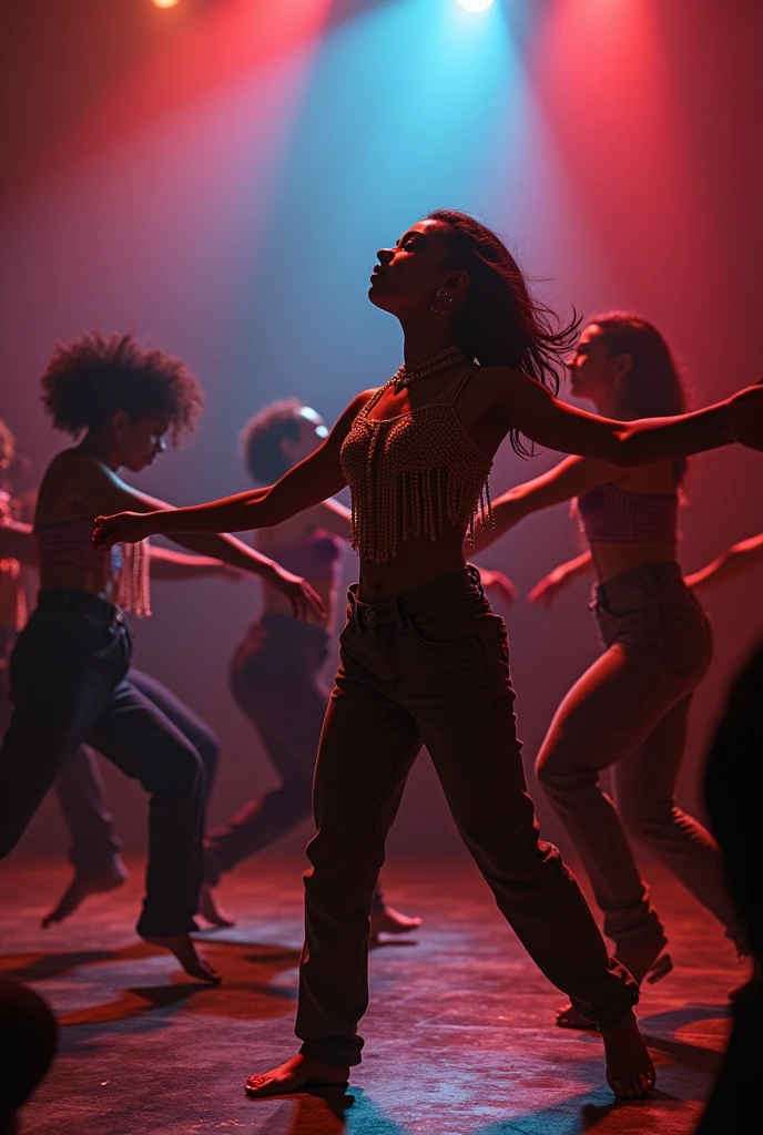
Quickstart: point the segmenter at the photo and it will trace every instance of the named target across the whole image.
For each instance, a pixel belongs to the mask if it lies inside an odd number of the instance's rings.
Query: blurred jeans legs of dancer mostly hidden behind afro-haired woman
[[[127,682],[148,698],[196,750],[204,766],[204,788],[209,799],[219,756],[219,741],[215,733],[156,678],[131,667]],[[83,875],[108,871],[119,855],[121,840],[117,835],[95,754],[89,745],[79,746],[61,768],[53,787],[72,839],[72,866]]]

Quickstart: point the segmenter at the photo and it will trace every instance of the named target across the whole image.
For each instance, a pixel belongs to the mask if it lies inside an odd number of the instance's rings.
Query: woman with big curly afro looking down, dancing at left
[[[42,378],[53,426],[74,437],[42,480],[35,515],[41,590],[14,648],[12,714],[0,748],[0,856],[7,855],[56,776],[89,741],[151,793],[146,896],[141,938],[170,950],[202,981],[217,975],[195,952],[204,777],[199,753],[126,680],[131,638],[124,611],[149,613],[146,549],[95,552],[93,516],[158,502],[117,476],[139,471],[191,429],[202,406],[178,360],[143,351],[132,336],[85,335],[59,347]],[[178,537],[282,588],[299,613],[320,612],[303,580],[229,536]]]

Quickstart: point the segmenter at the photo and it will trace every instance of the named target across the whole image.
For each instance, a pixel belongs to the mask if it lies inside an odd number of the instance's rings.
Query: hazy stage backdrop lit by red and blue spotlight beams
[[[441,205],[497,227],[560,308],[652,318],[695,404],[761,372],[758,0],[508,0],[481,22],[433,0],[28,0],[3,25],[0,415],[37,473],[61,445],[37,376],[56,340],[98,325],[183,355],[208,395],[198,436],[136,484],[178,504],[244,488],[236,438],[251,413],[297,394],[333,419],[396,369],[396,326],[368,304],[367,277],[379,245]],[[505,446],[493,489],[555,460]],[[693,463],[687,570],[763,529],[762,460],[728,448]],[[484,560],[526,592],[577,548],[562,506]],[[352,556],[345,566],[351,579]],[[716,654],[681,777],[690,806],[730,674],[761,633],[760,591],[751,573],[707,599]],[[551,613],[508,612],[528,772],[596,654],[586,602],[579,583]],[[154,609],[135,628],[136,662],[219,732],[217,822],[272,783],[226,687],[258,588],[157,585]],[[142,793],[106,775],[139,851]],[[422,759],[391,850],[459,846]],[[48,800],[15,855],[64,848]]]

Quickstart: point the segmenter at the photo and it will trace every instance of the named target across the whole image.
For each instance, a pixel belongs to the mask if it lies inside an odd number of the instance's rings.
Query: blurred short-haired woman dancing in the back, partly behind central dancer
[[[327,436],[324,419],[310,406],[296,398],[276,402],[244,429],[246,470],[255,484],[272,485]],[[320,671],[329,647],[327,628],[336,619],[342,543],[350,538],[350,510],[333,499],[258,533],[259,550],[304,575],[326,614],[318,624],[299,622],[284,596],[266,583],[263,613],[233,656],[233,696],[259,731],[280,785],[251,800],[204,840],[199,909],[215,925],[232,925],[215,897],[220,875],[310,816],[316,754],[329,697]],[[406,934],[420,925],[420,918],[388,907],[376,888],[371,939],[380,933]]]

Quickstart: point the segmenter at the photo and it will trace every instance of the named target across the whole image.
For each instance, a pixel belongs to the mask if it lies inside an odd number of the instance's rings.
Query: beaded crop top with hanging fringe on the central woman
[[[477,370],[458,375],[427,405],[387,421],[371,417],[380,386],[355,417],[342,445],[342,470],[352,494],[352,547],[362,560],[386,563],[411,536],[431,540],[445,524],[475,518],[493,523],[488,474],[493,462],[459,421],[454,403]]]

